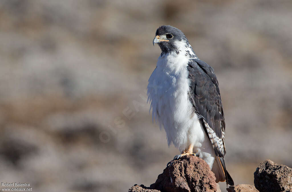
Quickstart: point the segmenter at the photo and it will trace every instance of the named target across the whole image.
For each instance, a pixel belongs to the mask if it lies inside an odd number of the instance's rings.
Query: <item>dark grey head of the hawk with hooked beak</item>
[[[156,30],[153,45],[158,43],[162,53],[169,53],[172,51],[180,51],[180,49],[189,45],[185,34],[178,28],[170,25],[162,25]]]

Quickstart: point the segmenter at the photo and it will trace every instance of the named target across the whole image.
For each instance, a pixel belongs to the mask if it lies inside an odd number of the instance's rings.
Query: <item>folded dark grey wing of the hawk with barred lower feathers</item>
[[[187,69],[190,78],[190,100],[194,110],[201,117],[200,121],[216,155],[224,158],[225,119],[214,69],[199,59],[190,60]]]

